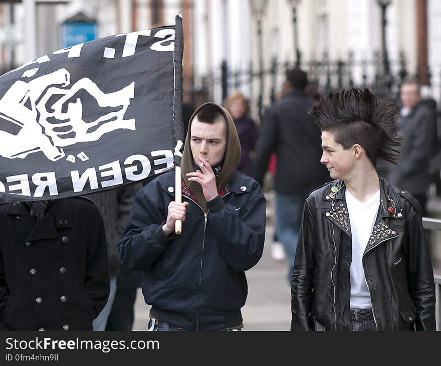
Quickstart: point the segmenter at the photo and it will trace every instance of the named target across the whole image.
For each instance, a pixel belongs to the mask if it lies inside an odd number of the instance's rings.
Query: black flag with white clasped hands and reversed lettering
[[[182,20],[0,76],[0,200],[112,189],[180,163]]]

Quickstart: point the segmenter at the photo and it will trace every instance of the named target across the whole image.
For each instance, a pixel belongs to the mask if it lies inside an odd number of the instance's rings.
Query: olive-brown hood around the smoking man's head
[[[241,157],[241,143],[239,141],[238,132],[236,130],[235,123],[233,121],[233,117],[227,111],[227,109],[221,107],[215,103],[205,103],[198,107],[194,113],[192,114],[190,121],[188,122],[188,130],[187,135],[185,136],[185,144],[184,151],[182,153],[181,159],[181,174],[184,179],[185,185],[191,192],[191,194],[196,198],[197,203],[202,207],[204,212],[206,212],[206,200],[203,196],[202,187],[194,181],[188,181],[186,173],[196,171],[194,168],[193,161],[193,153],[191,151],[191,123],[193,122],[194,116],[199,112],[199,110],[205,105],[213,105],[219,109],[220,112],[224,115],[224,118],[227,122],[227,145],[224,154],[224,163],[222,165],[222,169],[218,176],[216,176],[216,188],[217,193],[219,193],[228,183],[228,181],[233,176],[233,173],[236,170],[236,166]]]

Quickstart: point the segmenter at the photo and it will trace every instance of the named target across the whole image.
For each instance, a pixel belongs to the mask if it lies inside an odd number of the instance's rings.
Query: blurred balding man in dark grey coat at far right
[[[436,129],[434,113],[424,103],[416,81],[401,85],[398,134],[403,137],[398,165],[388,165],[387,180],[408,191],[426,216],[426,191],[430,183],[429,162],[434,154]]]

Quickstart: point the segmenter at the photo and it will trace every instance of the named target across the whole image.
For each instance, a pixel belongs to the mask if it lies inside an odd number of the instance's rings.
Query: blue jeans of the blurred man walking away
[[[276,231],[279,241],[288,257],[288,282],[291,283],[297,240],[302,224],[303,195],[282,195],[276,193]]]

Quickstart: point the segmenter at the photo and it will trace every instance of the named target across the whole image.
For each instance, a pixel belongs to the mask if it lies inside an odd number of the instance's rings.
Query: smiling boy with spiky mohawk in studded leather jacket
[[[306,200],[291,330],[435,330],[421,208],[375,170],[378,158],[398,161],[393,103],[350,89],[321,98],[310,113],[334,180]]]

